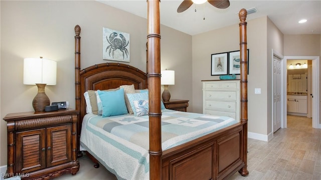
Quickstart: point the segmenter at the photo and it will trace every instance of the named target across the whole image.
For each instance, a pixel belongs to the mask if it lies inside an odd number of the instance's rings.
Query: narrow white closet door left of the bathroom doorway
[[[281,128],[281,59],[273,56],[273,132]]]

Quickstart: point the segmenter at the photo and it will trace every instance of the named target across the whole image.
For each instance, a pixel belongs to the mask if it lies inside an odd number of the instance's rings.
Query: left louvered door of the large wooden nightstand
[[[46,167],[46,129],[16,133],[16,172],[30,172]]]

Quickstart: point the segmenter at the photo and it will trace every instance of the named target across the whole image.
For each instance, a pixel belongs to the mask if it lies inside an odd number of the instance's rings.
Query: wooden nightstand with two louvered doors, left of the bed
[[[7,176],[51,179],[76,174],[78,111],[9,113]]]

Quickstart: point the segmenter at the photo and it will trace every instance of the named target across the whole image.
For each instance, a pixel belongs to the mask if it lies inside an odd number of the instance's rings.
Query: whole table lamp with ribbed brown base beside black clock
[[[32,101],[36,112],[45,111],[50,105],[50,100],[45,93],[46,84],[56,85],[57,62],[49,59],[25,58],[24,59],[24,84],[36,84],[38,93]]]

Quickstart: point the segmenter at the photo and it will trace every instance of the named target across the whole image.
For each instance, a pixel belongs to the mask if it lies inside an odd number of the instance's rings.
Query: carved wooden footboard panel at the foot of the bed
[[[164,150],[162,179],[226,179],[244,167],[244,123]]]

